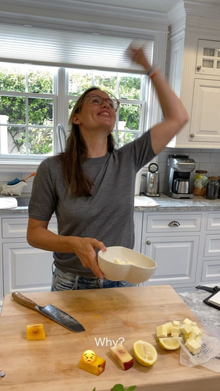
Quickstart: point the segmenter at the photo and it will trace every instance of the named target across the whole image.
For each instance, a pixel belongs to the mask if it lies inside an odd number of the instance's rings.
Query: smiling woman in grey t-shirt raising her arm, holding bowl
[[[52,291],[132,286],[104,279],[97,252],[134,246],[136,173],[188,121],[188,114],[142,48],[131,58],[151,77],[165,120],[133,142],[114,149],[112,131],[119,102],[97,88],[77,100],[66,150],[39,165],[29,203],[27,241],[54,252]],[[58,233],[48,230],[52,213]]]

